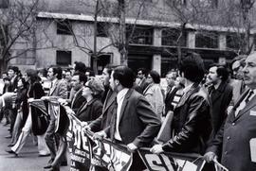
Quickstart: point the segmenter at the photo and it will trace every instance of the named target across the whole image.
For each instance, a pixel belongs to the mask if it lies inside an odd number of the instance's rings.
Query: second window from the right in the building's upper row
[[[200,32],[195,35],[195,47],[218,48],[218,40],[215,32]]]

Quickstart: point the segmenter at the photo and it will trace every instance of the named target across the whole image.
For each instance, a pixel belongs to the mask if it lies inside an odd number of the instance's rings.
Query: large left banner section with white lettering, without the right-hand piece
[[[129,170],[132,154],[126,146],[114,144],[106,139],[94,140],[93,132],[85,131],[82,122],[74,114],[67,113],[69,127],[66,135],[71,152],[72,169],[70,170],[82,170],[82,167],[90,167],[90,170],[94,170],[95,166],[114,171]]]

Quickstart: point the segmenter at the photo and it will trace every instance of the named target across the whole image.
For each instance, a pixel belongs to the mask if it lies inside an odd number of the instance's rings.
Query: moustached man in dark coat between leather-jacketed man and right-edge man
[[[207,82],[210,84],[208,92],[212,104],[212,136],[214,136],[228,113],[227,109],[232,99],[232,87],[228,83],[229,71],[224,66],[212,64],[207,76]]]

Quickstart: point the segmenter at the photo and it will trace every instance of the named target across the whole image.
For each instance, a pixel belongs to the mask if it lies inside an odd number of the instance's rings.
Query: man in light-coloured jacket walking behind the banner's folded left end
[[[42,97],[43,100],[51,100],[58,98],[67,98],[66,82],[62,79],[62,68],[60,67],[49,67],[47,72],[47,77],[51,80],[51,88],[49,90],[48,96]],[[50,168],[50,170],[58,171],[60,165],[67,165],[66,161],[66,140],[65,136],[56,134],[55,130],[55,115],[50,112],[50,123],[46,130],[46,145],[48,146],[51,154],[51,159],[45,168]],[[59,142],[58,151],[55,149],[55,140]]]

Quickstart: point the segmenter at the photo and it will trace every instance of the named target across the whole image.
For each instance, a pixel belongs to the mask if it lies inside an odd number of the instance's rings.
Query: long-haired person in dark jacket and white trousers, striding
[[[27,79],[27,81],[29,83],[29,88],[27,91],[27,96],[29,98],[28,101],[31,99],[40,99],[42,96],[45,95],[43,87],[42,87],[41,83],[39,82],[40,77],[38,77],[37,72],[35,70],[28,69],[25,74],[25,78]],[[31,113],[33,113],[33,114],[31,114]],[[36,125],[37,125],[36,117],[40,116],[41,114],[42,113],[40,113],[40,111],[38,111],[38,110],[33,110],[28,113],[26,124],[22,128],[22,133],[20,134],[18,141],[7,152],[13,153],[17,156],[18,153],[20,152],[20,150],[22,149],[22,147],[25,145],[25,143],[27,141],[27,136],[32,129],[33,133],[35,135],[37,135],[37,138],[38,138],[39,156],[40,157],[48,156],[49,150],[46,146],[46,142],[44,139],[44,133],[46,130],[44,131],[44,130],[38,129],[36,127]]]

